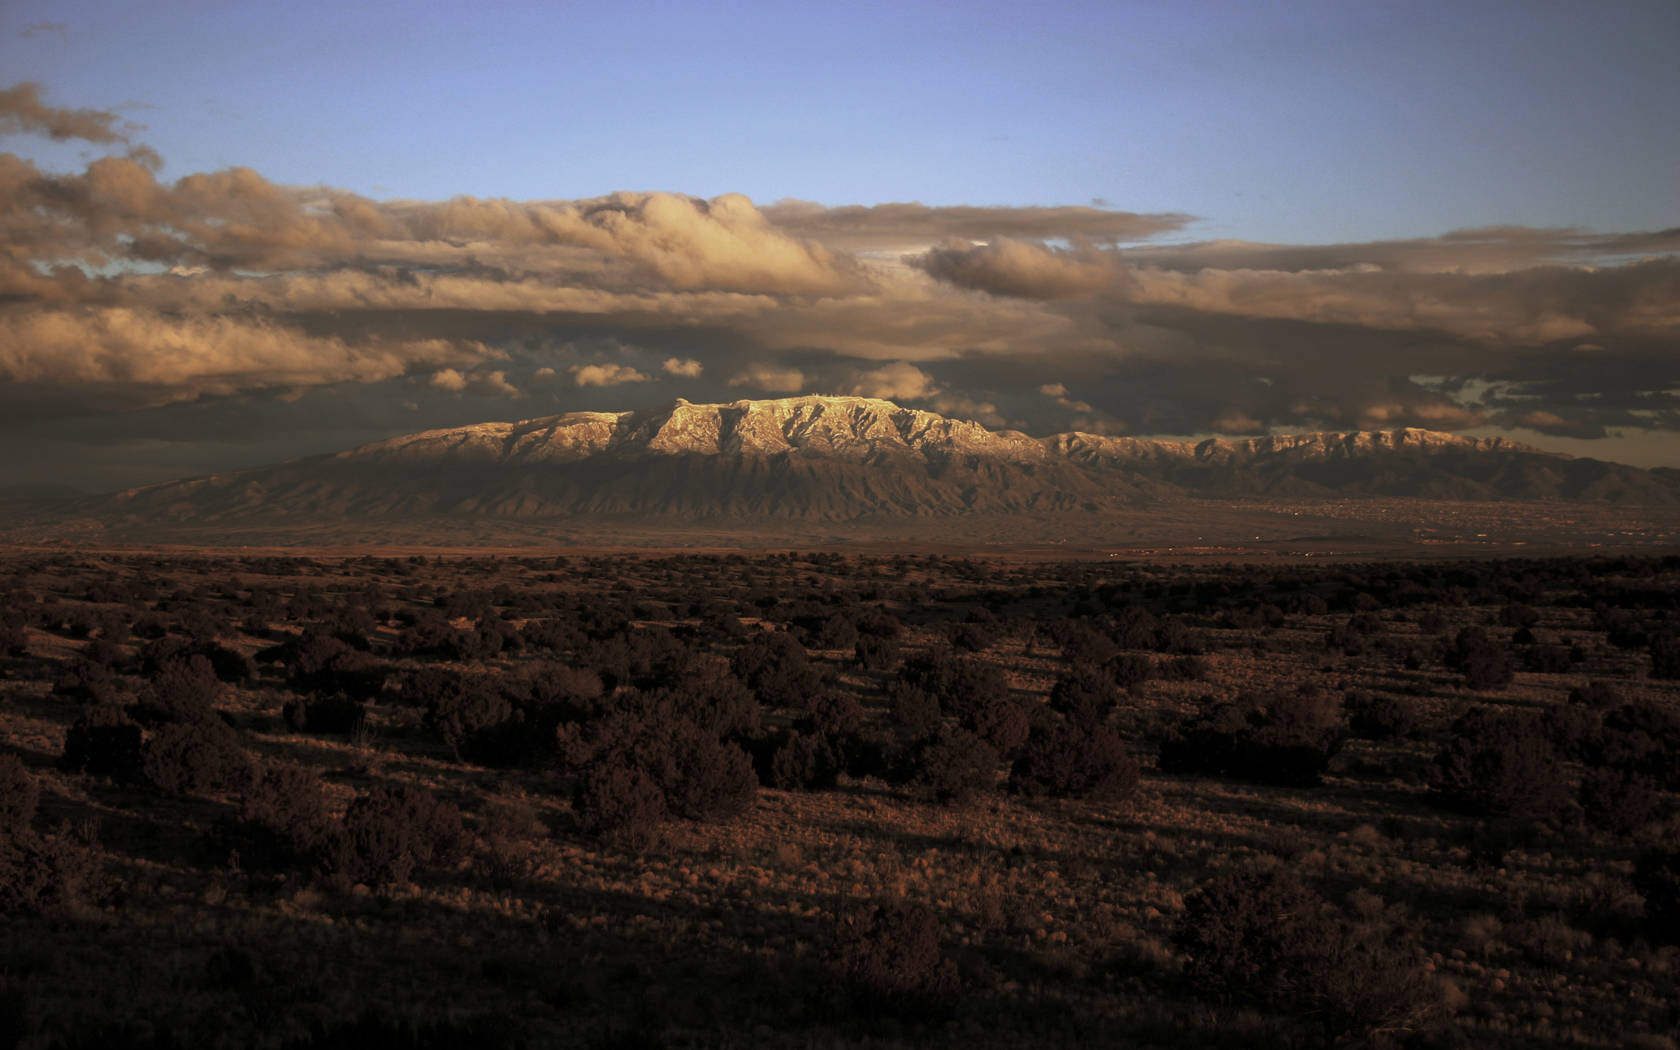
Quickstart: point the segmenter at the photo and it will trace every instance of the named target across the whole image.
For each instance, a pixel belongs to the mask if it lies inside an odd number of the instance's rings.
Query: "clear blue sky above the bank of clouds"
[[[18,37],[42,24],[64,29]],[[1292,244],[1673,225],[1677,52],[1668,2],[15,0],[0,32],[12,79],[118,106],[165,175],[420,200],[1097,198]]]

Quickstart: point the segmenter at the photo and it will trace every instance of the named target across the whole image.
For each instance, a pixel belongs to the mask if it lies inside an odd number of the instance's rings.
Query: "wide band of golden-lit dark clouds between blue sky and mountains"
[[[129,413],[235,440],[232,417],[185,407],[257,398],[306,420],[351,388],[408,430],[788,393],[1037,433],[1680,428],[1677,230],[1137,247],[1189,220],[654,192],[375,202],[249,168],[163,181],[114,114],[54,109],[32,84],[0,99],[0,133],[113,151],[69,173],[0,153],[13,435]]]

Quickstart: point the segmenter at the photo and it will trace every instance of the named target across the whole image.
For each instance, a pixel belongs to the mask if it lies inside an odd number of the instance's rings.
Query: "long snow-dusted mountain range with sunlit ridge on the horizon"
[[[136,534],[422,517],[726,528],[1136,514],[1196,497],[1675,507],[1680,472],[1410,428],[1200,444],[1035,438],[884,400],[798,396],[428,430],[109,496],[13,499],[10,516]]]

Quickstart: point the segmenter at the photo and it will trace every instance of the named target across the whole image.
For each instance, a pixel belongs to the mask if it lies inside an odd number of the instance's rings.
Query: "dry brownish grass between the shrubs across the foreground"
[[[588,586],[637,571],[618,563]],[[212,561],[171,576],[227,573]],[[462,581],[459,570],[427,573]],[[328,570],[307,581],[363,576]],[[954,586],[939,571],[894,583]],[[929,623],[902,610],[912,622],[906,650],[937,637],[949,615],[932,608]],[[1448,610],[1448,635],[1488,612]],[[1147,759],[1161,729],[1198,702],[1302,682],[1403,696],[1436,731],[1470,704],[1559,704],[1588,677],[1614,679],[1630,699],[1680,702],[1673,685],[1641,677],[1636,652],[1606,645],[1583,610],[1541,612],[1536,633],[1583,640],[1588,662],[1567,675],[1519,672],[1488,696],[1465,690],[1438,662],[1406,670],[1398,648],[1326,654],[1324,632],[1339,617],[1292,617],[1268,632],[1203,625],[1213,642],[1206,679],[1151,682],[1114,721]],[[1431,642],[1413,622],[1388,627],[1391,645]],[[1640,934],[1628,882],[1640,842],[1567,825],[1507,828],[1509,848],[1488,862],[1475,822],[1426,805],[1431,741],[1354,741],[1314,790],[1164,776],[1146,761],[1126,805],[1000,791],[946,808],[874,780],[818,795],[764,790],[734,823],[665,825],[652,850],[620,853],[573,833],[566,778],[455,763],[415,711],[378,706],[365,732],[314,738],[286,731],[281,682],[228,689],[220,707],[247,748],[319,768],[336,806],[376,783],[418,785],[457,801],[484,833],[457,870],[336,895],[301,877],[230,870],[213,828],[232,798],[166,800],[59,773],[52,763],[77,709],[50,696],[49,674],[81,642],[39,630],[30,642],[32,657],[13,662],[3,684],[0,738],[40,778],[37,825],[101,822],[123,890],[104,911],[71,919],[0,917],[0,968],[35,1025],[27,1047],[106,1020],[168,1026],[203,1045],[277,1045],[368,1008],[509,1018],[531,1045],[554,1047],[630,1037],[669,1047],[1267,1043],[1287,1037],[1289,1018],[1240,1013],[1215,1025],[1179,979],[1171,934],[1186,894],[1210,877],[1285,869],[1344,914],[1416,922],[1420,951],[1452,983],[1453,1030],[1470,1045],[1656,1047],[1680,1008],[1680,953]],[[884,675],[857,672],[843,654],[813,659],[884,717],[872,692]],[[1023,694],[1047,694],[1063,669],[1043,640],[1020,635],[978,659],[1000,664]],[[491,815],[509,806],[534,813],[541,828],[489,835]],[[1680,833],[1673,800],[1665,806],[1667,823],[1643,830],[1643,842]],[[951,1025],[919,1030],[837,1006],[822,954],[840,914],[879,899],[941,917],[966,986]],[[217,976],[213,959],[227,949],[249,953],[255,981]]]

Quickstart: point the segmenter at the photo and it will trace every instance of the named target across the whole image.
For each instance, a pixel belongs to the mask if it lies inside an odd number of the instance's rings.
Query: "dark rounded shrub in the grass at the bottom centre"
[[[942,1016],[961,991],[956,964],[939,954],[939,919],[917,904],[870,904],[843,916],[828,968],[865,1013]]]

